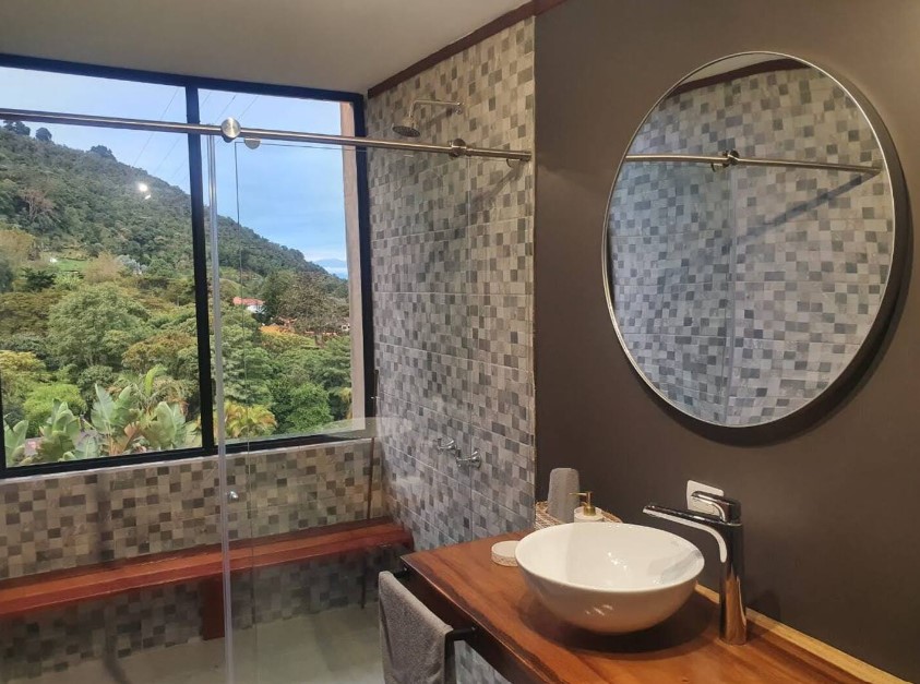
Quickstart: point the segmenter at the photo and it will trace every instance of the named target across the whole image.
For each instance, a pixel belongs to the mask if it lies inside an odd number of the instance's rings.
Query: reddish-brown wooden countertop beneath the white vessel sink
[[[522,537],[503,535],[403,559],[414,571],[409,588],[442,620],[478,627],[470,646],[515,684],[898,681],[855,659],[862,670],[822,657],[849,658],[831,647],[816,655],[814,647],[790,639],[799,633],[778,629],[777,623],[750,624],[748,644],[729,646],[718,638],[718,605],[705,589],[645,632],[608,636],[569,626],[541,608],[519,568],[492,563],[494,542]]]

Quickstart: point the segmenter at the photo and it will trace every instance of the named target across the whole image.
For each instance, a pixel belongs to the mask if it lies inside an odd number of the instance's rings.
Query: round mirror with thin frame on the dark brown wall
[[[638,128],[608,206],[605,280],[635,370],[716,425],[809,406],[884,327],[903,197],[850,86],[766,52],[695,71]]]

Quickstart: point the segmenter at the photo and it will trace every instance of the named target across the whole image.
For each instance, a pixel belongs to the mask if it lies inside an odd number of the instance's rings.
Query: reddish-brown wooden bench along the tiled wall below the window
[[[413,536],[391,518],[330,525],[319,529],[234,542],[230,574],[303,563],[378,549],[413,550]],[[31,615],[153,587],[199,583],[202,637],[224,636],[220,544],[172,553],[83,565],[0,581],[0,619]],[[367,577],[365,577],[367,581]]]

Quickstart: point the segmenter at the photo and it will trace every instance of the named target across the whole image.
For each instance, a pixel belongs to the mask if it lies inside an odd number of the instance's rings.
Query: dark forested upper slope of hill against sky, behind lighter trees
[[[191,274],[189,195],[111,152],[71,149],[0,131],[0,221],[17,225],[40,249],[76,257],[126,254],[154,271]],[[141,193],[138,183],[150,188]],[[150,194],[148,200],[144,200]],[[326,272],[297,251],[222,216],[220,263],[266,276],[278,269]],[[333,286],[340,283],[331,280]]]

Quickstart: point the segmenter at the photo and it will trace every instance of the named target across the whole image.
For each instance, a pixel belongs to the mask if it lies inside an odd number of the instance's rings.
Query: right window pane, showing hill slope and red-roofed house
[[[247,115],[244,124],[316,131],[310,121],[325,120],[322,132],[340,131],[338,103],[285,100],[265,98],[260,118]],[[236,141],[218,142],[216,153],[227,437],[332,432],[353,416],[358,313],[343,152]]]

